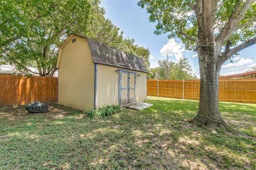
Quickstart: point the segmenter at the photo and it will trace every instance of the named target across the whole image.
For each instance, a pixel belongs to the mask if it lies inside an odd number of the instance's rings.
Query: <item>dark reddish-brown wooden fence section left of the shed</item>
[[[58,78],[0,74],[0,107],[57,101]]]

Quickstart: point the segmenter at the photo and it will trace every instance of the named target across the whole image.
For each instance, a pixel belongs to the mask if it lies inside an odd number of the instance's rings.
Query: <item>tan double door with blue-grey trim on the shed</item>
[[[135,101],[136,73],[120,71],[119,74],[120,104],[132,103]]]

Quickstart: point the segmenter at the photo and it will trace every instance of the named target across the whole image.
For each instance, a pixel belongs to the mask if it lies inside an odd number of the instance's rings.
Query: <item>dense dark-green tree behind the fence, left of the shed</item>
[[[58,47],[69,32],[86,28],[90,6],[86,0],[4,1],[2,57],[20,73],[52,76]],[[11,12],[6,13],[9,8]],[[36,67],[37,72],[28,66]]]

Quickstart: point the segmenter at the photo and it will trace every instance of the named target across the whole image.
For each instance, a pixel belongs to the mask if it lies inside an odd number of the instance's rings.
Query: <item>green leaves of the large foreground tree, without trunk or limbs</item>
[[[183,44],[185,44],[186,49],[195,50],[196,43],[185,36],[187,35],[197,39],[199,33],[196,14],[193,8],[190,7],[189,2],[191,2],[191,5],[196,4],[194,0],[140,0],[138,5],[142,8],[146,8],[147,12],[150,14],[150,22],[157,23],[155,31],[157,35],[168,33],[169,38],[180,38]],[[225,27],[225,23],[227,23],[237,3],[241,3],[240,7],[242,7],[245,1],[218,0],[213,25],[215,37],[218,35],[219,31]],[[231,46],[235,46],[239,41],[248,40],[256,35],[255,13],[256,2],[254,1],[245,13],[243,20],[238,23],[237,29],[229,37],[228,40],[231,41]],[[181,31],[183,33],[181,33]],[[225,45],[225,43],[226,42],[223,42],[222,45]]]

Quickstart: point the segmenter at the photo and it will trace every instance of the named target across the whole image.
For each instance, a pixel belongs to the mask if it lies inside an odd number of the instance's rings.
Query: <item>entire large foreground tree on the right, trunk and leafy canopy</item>
[[[229,128],[219,111],[219,73],[230,57],[256,43],[256,3],[253,0],[140,0],[157,22],[156,34],[180,38],[198,54],[200,100],[193,125]],[[222,49],[223,48],[223,49]]]

